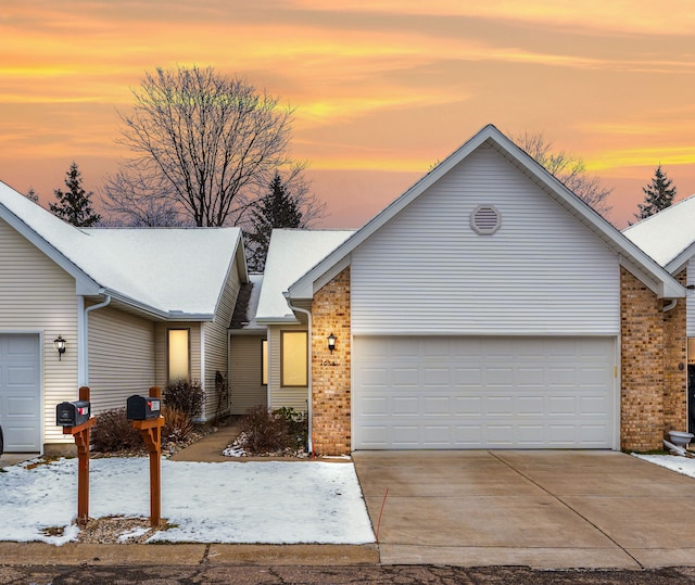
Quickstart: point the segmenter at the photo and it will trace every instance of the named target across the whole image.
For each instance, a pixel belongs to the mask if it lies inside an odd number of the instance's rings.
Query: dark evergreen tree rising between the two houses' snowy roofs
[[[288,193],[278,173],[270,181],[269,191],[263,195],[251,212],[253,231],[247,236],[250,257],[249,268],[262,272],[274,228],[302,227],[302,212],[295,199]]]

